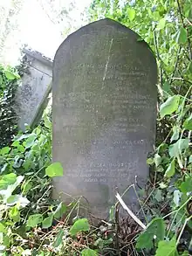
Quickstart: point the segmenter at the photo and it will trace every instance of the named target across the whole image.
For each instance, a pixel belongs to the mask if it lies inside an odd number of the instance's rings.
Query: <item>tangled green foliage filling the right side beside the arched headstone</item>
[[[92,20],[110,17],[136,31],[153,49],[159,68],[156,150],[154,157],[147,160],[153,168],[141,203],[147,230],[139,238],[135,236],[134,248],[131,248],[133,240],[129,246],[127,243],[127,253],[189,255],[192,251],[191,1],[93,0],[90,17]]]

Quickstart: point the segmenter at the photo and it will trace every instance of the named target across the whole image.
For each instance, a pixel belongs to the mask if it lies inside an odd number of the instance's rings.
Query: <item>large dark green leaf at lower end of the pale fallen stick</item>
[[[165,236],[165,224],[162,218],[154,218],[148,225],[147,229],[141,233],[137,239],[136,248],[138,249],[151,249],[154,247],[154,236],[155,241],[158,243]],[[162,256],[162,255],[161,255]]]

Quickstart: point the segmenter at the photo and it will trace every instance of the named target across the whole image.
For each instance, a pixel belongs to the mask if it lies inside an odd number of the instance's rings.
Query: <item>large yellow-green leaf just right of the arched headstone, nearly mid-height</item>
[[[169,97],[168,100],[166,100],[163,104],[161,104],[161,107],[160,107],[161,118],[163,118],[167,114],[174,113],[179,107],[179,100],[180,100],[180,96],[174,95],[172,97]]]

